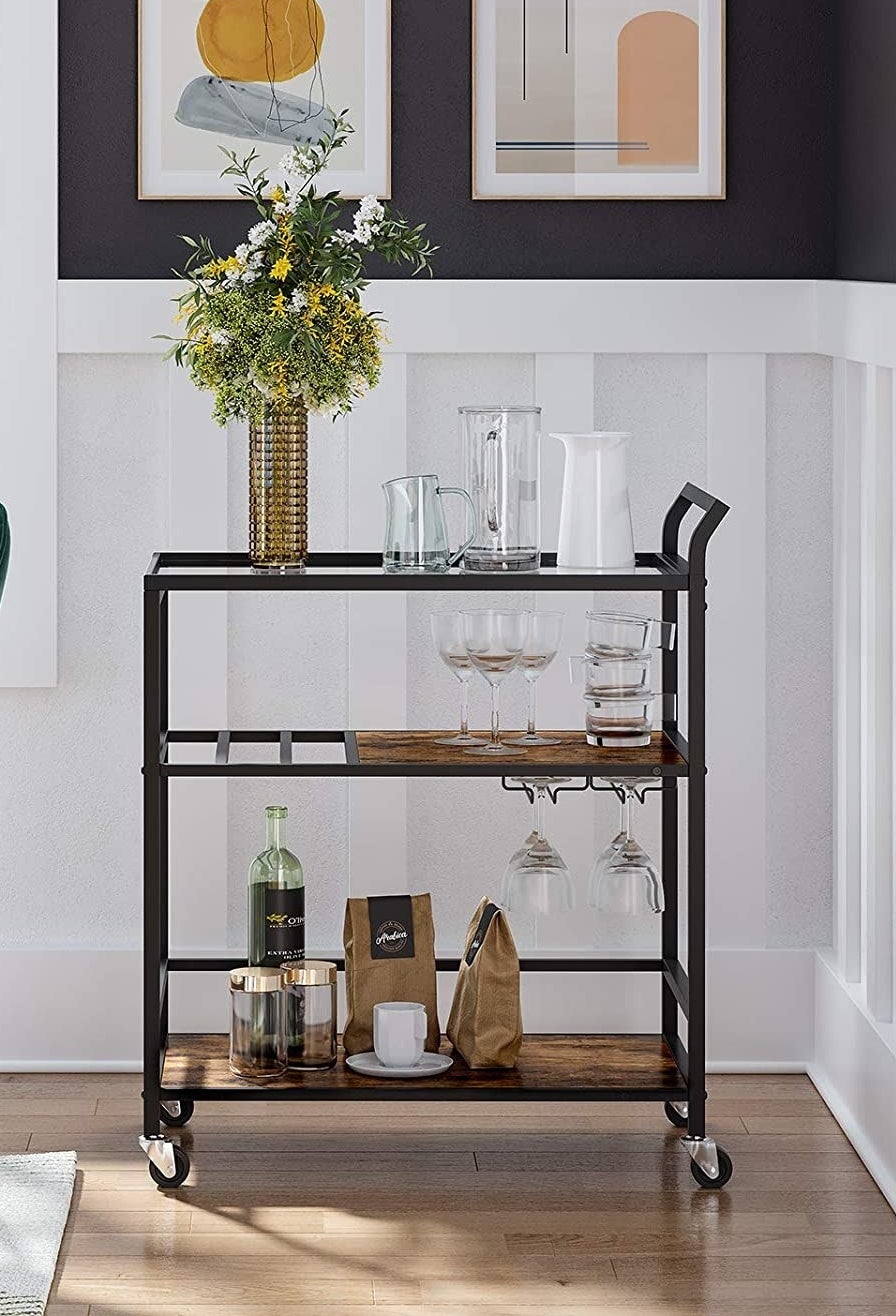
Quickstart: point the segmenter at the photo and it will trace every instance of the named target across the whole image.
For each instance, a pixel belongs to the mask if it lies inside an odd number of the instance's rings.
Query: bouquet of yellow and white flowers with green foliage
[[[375,196],[364,196],[349,229],[338,228],[337,192],[314,180],[353,132],[345,114],[314,145],[297,145],[280,161],[282,186],[270,187],[258,155],[222,171],[255,204],[261,220],[232,255],[218,257],[208,238],[184,237],[189,258],[176,299],[183,337],[168,351],[193,383],[214,393],[214,417],[259,424],[266,409],[304,405],[333,416],[351,409],[380,372],[383,322],[361,304],[371,251],[418,274],[436,250],[424,225],[412,228]]]

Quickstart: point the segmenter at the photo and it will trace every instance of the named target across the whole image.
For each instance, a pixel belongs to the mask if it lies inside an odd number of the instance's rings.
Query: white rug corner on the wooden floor
[[[0,1157],[0,1316],[43,1316],[76,1166],[74,1152]]]

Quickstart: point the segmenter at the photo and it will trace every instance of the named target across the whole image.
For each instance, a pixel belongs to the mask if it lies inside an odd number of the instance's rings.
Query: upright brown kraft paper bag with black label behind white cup
[[[342,1034],[346,1055],[374,1049],[374,1005],[412,1000],[426,1008],[426,1050],[442,1041],[436,996],[436,930],[429,895],[346,900]]]

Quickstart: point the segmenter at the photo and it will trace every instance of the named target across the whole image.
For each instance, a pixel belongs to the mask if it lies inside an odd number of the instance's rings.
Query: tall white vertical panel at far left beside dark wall
[[[0,503],[12,553],[0,687],[57,683],[57,82],[55,4],[4,5]]]

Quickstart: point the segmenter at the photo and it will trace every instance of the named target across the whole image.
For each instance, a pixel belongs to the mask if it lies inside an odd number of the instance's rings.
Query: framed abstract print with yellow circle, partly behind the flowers
[[[141,0],[141,199],[233,199],[220,146],[276,175],[347,111],[321,186],[389,196],[389,0]]]

